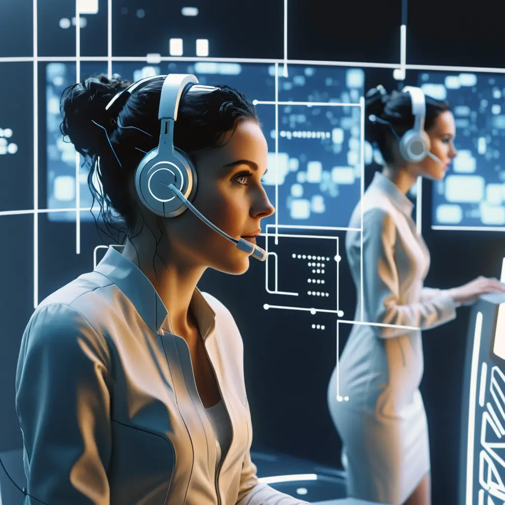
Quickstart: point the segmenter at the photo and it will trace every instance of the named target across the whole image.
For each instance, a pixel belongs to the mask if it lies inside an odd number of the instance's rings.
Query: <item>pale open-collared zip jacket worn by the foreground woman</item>
[[[191,309],[229,419],[221,460],[185,340],[149,280],[110,247],[41,302],[23,335],[16,409],[30,495],[49,505],[306,503],[256,476],[233,317],[198,289]]]

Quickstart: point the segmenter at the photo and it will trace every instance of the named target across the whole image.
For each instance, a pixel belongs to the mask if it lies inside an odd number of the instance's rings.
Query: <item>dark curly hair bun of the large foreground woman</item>
[[[111,118],[105,108],[129,84],[119,77],[109,79],[105,75],[98,75],[65,89],[60,103],[63,116],[60,129],[63,135],[70,138],[78,153],[89,157],[99,156],[104,148],[110,148],[104,128],[111,130],[111,120],[116,118]]]

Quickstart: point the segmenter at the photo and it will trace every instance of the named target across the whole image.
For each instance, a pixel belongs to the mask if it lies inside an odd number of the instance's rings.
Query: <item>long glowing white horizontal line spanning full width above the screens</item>
[[[149,57],[150,59],[151,57]],[[147,62],[147,56],[39,56],[39,57],[1,57],[0,63],[20,63],[20,62]],[[324,66],[324,67],[362,67],[362,68],[390,68],[399,69],[399,63],[373,63],[373,62],[342,62],[323,60],[287,60],[280,58],[201,58],[201,57],[176,57],[161,56],[159,61],[166,62],[214,62],[214,63],[258,63],[258,64],[288,64],[304,66]],[[406,70],[430,70],[434,72],[484,72],[490,74],[504,74],[505,68],[493,67],[455,67],[451,65],[405,65]]]

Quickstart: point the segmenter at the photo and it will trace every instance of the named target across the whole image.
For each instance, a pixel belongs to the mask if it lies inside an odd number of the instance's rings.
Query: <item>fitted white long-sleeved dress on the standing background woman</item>
[[[428,329],[456,317],[443,290],[423,287],[430,255],[411,217],[412,203],[377,173],[352,214],[361,228],[363,321]],[[361,321],[361,233],[348,231],[346,253]],[[342,439],[350,496],[400,505],[430,471],[428,426],[419,391],[421,331],[354,325],[328,388],[328,406]]]

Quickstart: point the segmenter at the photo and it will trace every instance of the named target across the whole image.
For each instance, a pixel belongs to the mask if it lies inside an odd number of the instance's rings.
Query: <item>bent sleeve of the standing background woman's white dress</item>
[[[393,218],[382,209],[371,209],[363,223],[363,302],[369,323],[409,326],[423,330],[456,318],[454,300],[444,290],[426,288],[418,302],[403,305],[395,251],[402,247]],[[351,255],[361,254],[360,243],[351,244]],[[373,327],[381,338],[405,335],[405,328]]]

